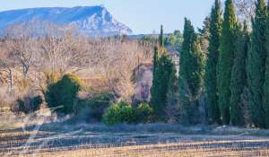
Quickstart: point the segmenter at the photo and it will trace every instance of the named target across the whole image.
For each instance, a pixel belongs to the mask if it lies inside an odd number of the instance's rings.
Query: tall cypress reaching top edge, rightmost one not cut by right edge
[[[265,127],[265,109],[263,108],[266,59],[265,26],[265,0],[258,0],[256,17],[252,20],[251,49],[247,56],[248,104],[252,122],[258,127]]]

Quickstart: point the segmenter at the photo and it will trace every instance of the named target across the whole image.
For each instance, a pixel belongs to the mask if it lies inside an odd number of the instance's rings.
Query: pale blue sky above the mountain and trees
[[[125,23],[134,34],[183,30],[184,18],[195,28],[202,27],[214,0],[1,0],[0,11],[32,7],[74,7],[104,5],[118,22]]]

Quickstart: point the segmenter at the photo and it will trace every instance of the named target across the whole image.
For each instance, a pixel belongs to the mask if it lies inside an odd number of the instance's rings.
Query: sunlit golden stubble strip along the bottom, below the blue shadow
[[[31,153],[11,156],[268,156],[269,150],[265,144],[268,144],[268,140],[180,142],[178,144],[145,144],[133,146],[97,144],[81,145],[79,147],[65,147],[62,151],[56,151],[52,149],[45,153],[43,152],[44,150],[39,149],[36,151],[41,151],[43,153]]]

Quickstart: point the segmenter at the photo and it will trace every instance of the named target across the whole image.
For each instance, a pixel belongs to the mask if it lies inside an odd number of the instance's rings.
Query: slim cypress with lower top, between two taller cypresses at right
[[[235,59],[231,71],[230,79],[230,121],[232,125],[243,126],[243,104],[241,96],[244,88],[247,86],[247,51],[248,51],[248,32],[247,22],[244,23],[244,29],[238,28],[238,37],[236,41],[237,49],[235,51]]]

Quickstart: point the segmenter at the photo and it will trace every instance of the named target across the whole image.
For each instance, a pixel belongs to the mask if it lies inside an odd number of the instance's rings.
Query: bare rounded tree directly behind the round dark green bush
[[[65,34],[63,37],[47,37],[39,39],[39,70],[52,73],[59,72],[65,74],[72,71],[71,67],[78,68],[76,65],[82,63],[85,54],[80,39]]]

